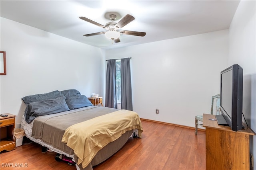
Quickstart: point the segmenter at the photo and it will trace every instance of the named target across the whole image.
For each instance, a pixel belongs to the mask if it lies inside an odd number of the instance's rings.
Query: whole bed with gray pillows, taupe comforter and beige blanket
[[[92,170],[143,131],[134,111],[93,106],[74,89],[22,98],[21,128],[26,137],[74,158],[78,170]]]

